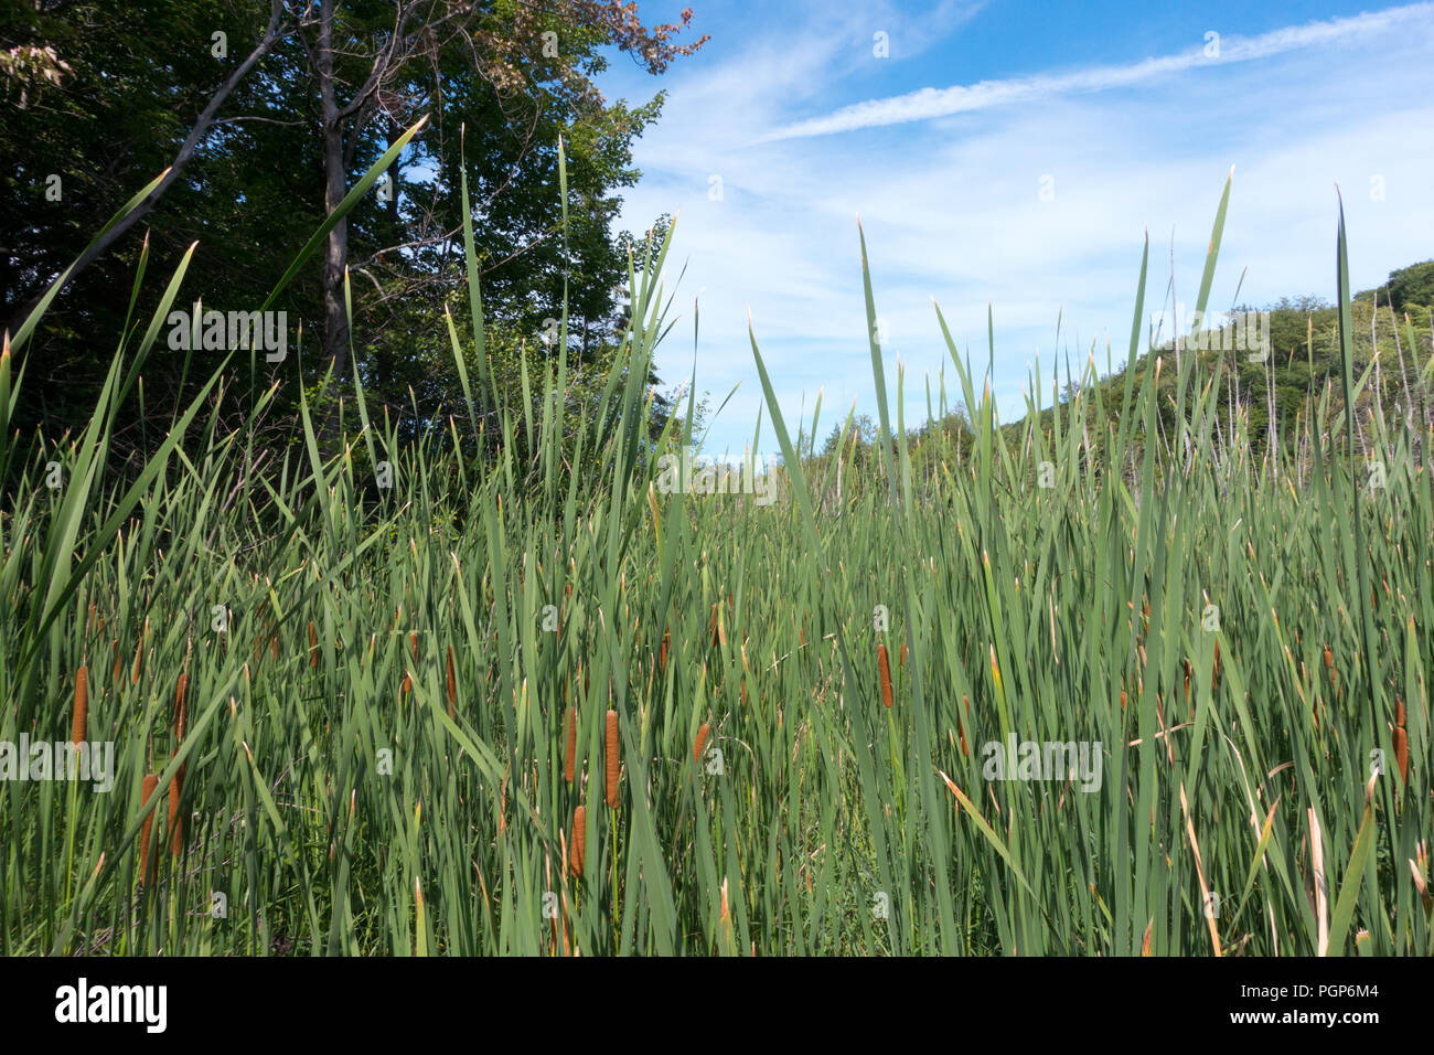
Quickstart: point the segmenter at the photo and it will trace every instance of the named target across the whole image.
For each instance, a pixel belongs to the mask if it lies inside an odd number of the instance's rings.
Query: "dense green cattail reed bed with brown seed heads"
[[[115,751],[109,792],[0,782],[0,952],[1434,953],[1431,436],[1351,355],[1311,465],[1217,438],[1193,356],[1012,442],[938,311],[965,442],[913,469],[873,343],[885,455],[832,504],[853,468],[797,449],[820,408],[782,418],[754,336],[780,500],[663,494],[665,245],[592,416],[564,357],[526,405],[486,388],[466,235],[467,413],[416,444],[356,383],[337,455],[305,411],[255,469],[214,382],[109,475],[184,267],[73,442],[16,461],[0,360],[0,741]],[[1342,221],[1334,255],[1348,311]],[[1131,356],[1144,307],[1141,260]],[[1008,741],[1090,745],[1098,779],[988,779]]]

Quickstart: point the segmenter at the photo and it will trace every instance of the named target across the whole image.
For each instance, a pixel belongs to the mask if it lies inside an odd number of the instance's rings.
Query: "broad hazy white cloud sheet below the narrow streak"
[[[1002,419],[1015,419],[1037,349],[1047,395],[1053,353],[1063,373],[1067,350],[1080,370],[1094,339],[1103,372],[1108,333],[1114,362],[1124,359],[1146,222],[1146,311],[1160,310],[1172,231],[1176,293],[1193,301],[1232,164],[1212,307],[1229,304],[1246,264],[1243,301],[1332,294],[1336,179],[1355,287],[1372,286],[1434,248],[1431,11],[1434,4],[1421,4],[1248,40],[1228,36],[1215,76],[1146,76],[1131,82],[1139,90],[1070,89],[1040,105],[786,139],[761,132],[832,90],[829,70],[847,62],[853,24],[865,30],[870,20],[799,33],[803,43],[789,65],[774,60],[780,49],[757,30],[743,55],[674,80],[663,121],[638,144],[645,177],[625,194],[625,225],[642,230],[658,212],[680,208],[670,276],[688,264],[674,300],[684,319],[658,353],[658,372],[670,383],[687,382],[691,303],[701,290],[698,389],[717,403],[741,383],[710,446],[741,451],[764,402],[749,307],[793,432],[799,412],[810,422],[819,390],[823,433],[853,399],[859,413],[875,416],[860,212],[878,313],[891,330],[888,386],[898,357],[908,367],[908,426],[925,416],[926,373],[945,369],[948,390],[958,388],[932,296],[978,373],[994,304],[995,390]],[[1411,13],[1423,13],[1424,24]],[[1265,60],[1228,60],[1253,57],[1249,49]],[[1137,67],[1143,63],[1108,69]],[[754,135],[763,142],[754,145]],[[723,175],[721,201],[708,200],[714,172]],[[1054,178],[1054,201],[1040,200],[1041,175]],[[1369,195],[1375,175],[1385,201]],[[774,449],[766,413],[763,448]]]

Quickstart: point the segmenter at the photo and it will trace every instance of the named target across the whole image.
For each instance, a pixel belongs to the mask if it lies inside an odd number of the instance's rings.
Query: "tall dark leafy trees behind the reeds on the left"
[[[257,307],[348,185],[429,115],[381,194],[330,231],[320,260],[278,304],[301,333],[318,334],[318,372],[344,378],[347,278],[363,327],[354,347],[371,353],[360,356],[363,379],[390,406],[402,406],[407,383],[419,379],[417,334],[442,330],[443,303],[462,294],[460,175],[483,248],[485,314],[536,333],[558,311],[566,280],[581,352],[594,355],[611,339],[614,289],[625,278],[612,191],[637,179],[631,141],[655,119],[661,93],[635,108],[608,103],[592,83],[605,63],[601,49],[617,46],[660,73],[706,40],[673,40],[690,10],[681,24],[648,29],[635,4],[617,0],[274,0],[267,10],[239,0],[142,0],[119,11],[63,0],[0,3],[3,88],[24,99],[0,115],[0,135],[34,144],[16,171],[0,174],[7,319],[23,319],[92,233],[169,169],[133,218],[70,273],[47,333],[27,349],[30,376],[102,375],[95,367],[110,349],[95,336],[118,333],[129,317],[141,225],[156,261],[199,243],[186,286],[202,289],[184,296]],[[569,172],[566,245],[556,222],[559,136]],[[66,197],[46,208],[37,202],[54,169]],[[274,370],[298,370],[297,360]],[[146,392],[179,395],[185,376],[175,360],[152,362]],[[83,416],[87,393],[63,398],[73,402],[39,408],[34,418]]]

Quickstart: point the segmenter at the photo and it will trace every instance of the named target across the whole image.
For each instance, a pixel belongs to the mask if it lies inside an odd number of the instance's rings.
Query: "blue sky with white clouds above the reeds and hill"
[[[683,6],[640,11],[677,22]],[[632,102],[668,93],[635,145],[642,179],[621,224],[678,214],[681,322],[657,366],[685,383],[695,355],[714,403],[739,386],[708,454],[740,454],[763,402],[749,310],[789,428],[819,392],[823,435],[853,400],[875,418],[858,214],[908,426],[928,376],[959,385],[932,299],[977,365],[992,304],[1002,421],[1024,412],[1038,353],[1047,398],[1057,350],[1080,369],[1096,340],[1103,372],[1108,334],[1119,365],[1146,225],[1149,319],[1172,250],[1176,296],[1193,303],[1232,165],[1212,309],[1242,271],[1243,303],[1332,299],[1336,182],[1355,289],[1434,257],[1434,3],[691,6],[711,34],[701,52],[661,78],[619,56],[599,83]]]

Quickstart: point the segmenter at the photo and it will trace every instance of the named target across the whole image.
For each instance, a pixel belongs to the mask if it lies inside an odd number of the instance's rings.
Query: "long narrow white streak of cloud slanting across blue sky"
[[[1152,57],[1120,66],[1094,66],[1074,73],[982,80],[975,85],[955,85],[942,89],[923,88],[918,92],[889,99],[870,99],[852,106],[843,106],[822,118],[799,121],[759,136],[756,142],[833,135],[859,128],[945,118],[954,113],[982,111],[1012,102],[1032,102],[1077,92],[1127,88],[1197,66],[1250,62],[1253,59],[1266,59],[1285,52],[1315,47],[1351,37],[1387,33],[1401,23],[1427,23],[1431,17],[1434,17],[1434,3],[1418,3],[1358,14],[1349,19],[1331,19],[1328,22],[1312,22],[1305,26],[1289,26],[1253,37],[1209,40],[1179,55]]]

